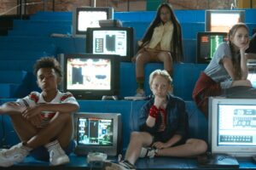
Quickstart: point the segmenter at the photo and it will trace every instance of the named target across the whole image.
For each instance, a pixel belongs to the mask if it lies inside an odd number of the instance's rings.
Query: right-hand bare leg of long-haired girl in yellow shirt
[[[157,58],[164,63],[164,69],[170,74],[172,77],[172,55],[168,52],[160,52],[157,54]]]

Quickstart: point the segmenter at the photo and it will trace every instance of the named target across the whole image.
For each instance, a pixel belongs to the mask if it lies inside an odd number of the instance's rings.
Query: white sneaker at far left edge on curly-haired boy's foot
[[[0,167],[10,167],[15,163],[20,163],[29,154],[31,148],[22,143],[16,144],[9,150],[0,150]]]

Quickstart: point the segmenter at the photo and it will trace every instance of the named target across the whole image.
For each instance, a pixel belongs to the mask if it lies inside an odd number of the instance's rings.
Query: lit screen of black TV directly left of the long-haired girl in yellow
[[[93,54],[127,54],[127,31],[93,31]]]

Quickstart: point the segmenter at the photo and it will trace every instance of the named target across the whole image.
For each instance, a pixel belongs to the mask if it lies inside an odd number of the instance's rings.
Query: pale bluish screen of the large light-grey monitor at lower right
[[[256,146],[256,105],[218,105],[218,145]]]

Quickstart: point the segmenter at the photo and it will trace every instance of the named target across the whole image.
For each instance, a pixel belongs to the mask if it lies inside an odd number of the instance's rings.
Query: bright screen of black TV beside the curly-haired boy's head
[[[111,89],[110,59],[67,59],[67,90]]]

